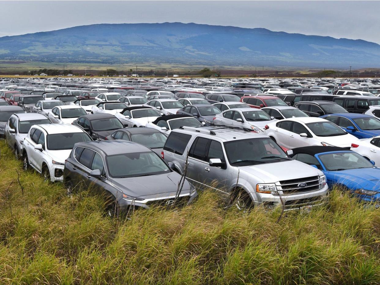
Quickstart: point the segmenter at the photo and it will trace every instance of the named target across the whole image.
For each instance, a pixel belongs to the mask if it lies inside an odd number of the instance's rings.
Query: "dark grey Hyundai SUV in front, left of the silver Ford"
[[[187,204],[198,195],[149,147],[128,141],[79,142],[65,161],[68,193],[84,188],[106,198],[110,216],[151,206]],[[75,188],[74,188],[75,187]],[[115,211],[116,209],[116,211]]]

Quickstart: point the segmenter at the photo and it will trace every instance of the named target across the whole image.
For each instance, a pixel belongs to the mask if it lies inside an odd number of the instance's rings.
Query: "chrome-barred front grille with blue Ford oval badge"
[[[276,183],[277,189],[284,195],[309,192],[320,189],[319,176],[304,177],[300,179],[282,180]]]

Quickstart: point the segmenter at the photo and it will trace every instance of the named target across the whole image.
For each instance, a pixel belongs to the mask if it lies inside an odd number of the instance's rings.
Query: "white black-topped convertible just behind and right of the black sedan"
[[[162,113],[146,106],[125,108],[122,112],[115,114],[115,117],[126,127],[145,127],[147,123],[153,122],[161,116]]]

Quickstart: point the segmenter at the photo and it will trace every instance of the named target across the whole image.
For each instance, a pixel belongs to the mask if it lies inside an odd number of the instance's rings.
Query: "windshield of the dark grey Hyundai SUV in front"
[[[149,176],[171,172],[154,152],[135,152],[106,157],[109,175],[113,178]]]

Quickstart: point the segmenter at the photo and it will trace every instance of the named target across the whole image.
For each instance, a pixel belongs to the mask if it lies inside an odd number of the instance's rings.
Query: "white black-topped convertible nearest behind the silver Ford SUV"
[[[188,115],[168,115],[158,117],[151,123],[145,125],[147,128],[155,128],[156,130],[161,131],[162,133],[169,135],[172,130],[179,127],[203,127],[203,124],[200,123],[194,117]]]

